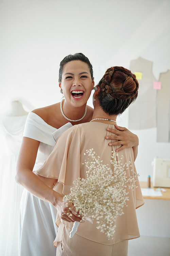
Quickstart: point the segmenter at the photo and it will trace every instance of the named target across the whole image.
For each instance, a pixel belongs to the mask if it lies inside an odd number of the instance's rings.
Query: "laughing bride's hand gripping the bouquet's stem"
[[[63,221],[67,222],[80,222],[81,216],[79,213],[75,211],[75,208],[72,203],[64,203],[63,204],[63,197],[57,199],[57,212]],[[79,216],[79,217],[78,217]]]

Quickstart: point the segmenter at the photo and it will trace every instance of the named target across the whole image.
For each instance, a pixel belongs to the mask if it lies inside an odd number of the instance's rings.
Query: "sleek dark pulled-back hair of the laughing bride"
[[[85,63],[87,63],[90,74],[91,74],[91,79],[93,80],[93,67],[89,61],[89,59],[83,54],[83,53],[75,53],[75,54],[69,54],[66,56],[61,62],[60,62],[60,69],[59,69],[59,79],[58,82],[61,83],[62,81],[62,74],[63,74],[63,68],[64,65],[72,60],[81,60]]]

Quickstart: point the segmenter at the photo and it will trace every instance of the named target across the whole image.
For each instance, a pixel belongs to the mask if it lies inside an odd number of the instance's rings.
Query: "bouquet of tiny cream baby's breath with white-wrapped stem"
[[[131,162],[122,164],[118,161],[116,152],[112,152],[111,167],[102,164],[93,148],[86,150],[86,154],[89,156],[83,163],[87,167],[86,179],[75,180],[70,194],[64,196],[63,201],[73,203],[82,221],[96,219],[97,228],[105,232],[109,239],[115,233],[116,217],[123,214],[123,207],[129,200],[126,187],[135,188],[138,174],[133,172]],[[128,169],[132,174],[126,177]],[[78,225],[79,222],[74,222],[70,237],[77,231]]]

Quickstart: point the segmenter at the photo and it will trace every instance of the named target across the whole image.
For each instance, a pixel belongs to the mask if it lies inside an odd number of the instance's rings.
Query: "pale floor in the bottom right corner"
[[[128,256],[170,256],[170,238],[139,237],[129,240]]]

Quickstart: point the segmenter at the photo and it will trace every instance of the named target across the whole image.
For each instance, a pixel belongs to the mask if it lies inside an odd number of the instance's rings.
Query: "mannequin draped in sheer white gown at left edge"
[[[19,206],[23,187],[15,182],[15,174],[28,112],[19,101],[10,102],[5,111],[5,115],[0,115],[0,255],[18,256]]]

